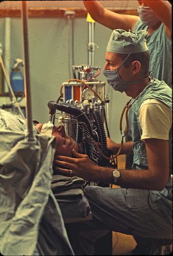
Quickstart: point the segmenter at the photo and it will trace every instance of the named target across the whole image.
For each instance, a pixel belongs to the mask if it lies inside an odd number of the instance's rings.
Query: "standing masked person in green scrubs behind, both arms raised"
[[[147,45],[150,53],[149,67],[154,71],[154,77],[164,80],[172,87],[172,11],[171,1],[140,0],[114,1],[115,6],[137,6],[137,15],[121,14],[121,7],[111,11],[101,5],[101,1],[83,1],[92,18],[103,26],[114,29],[145,30],[148,33]],[[136,3],[135,3],[136,2]],[[133,4],[133,6],[132,6]],[[118,10],[119,9],[119,10]],[[129,11],[130,12],[130,11]],[[110,100],[112,94],[110,95]],[[131,109],[128,112],[129,128],[131,128]],[[131,129],[125,136],[132,140]],[[133,155],[126,155],[126,167],[131,168]],[[146,248],[146,246],[145,246]]]

